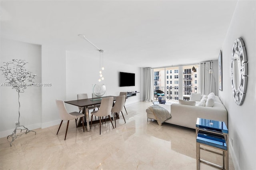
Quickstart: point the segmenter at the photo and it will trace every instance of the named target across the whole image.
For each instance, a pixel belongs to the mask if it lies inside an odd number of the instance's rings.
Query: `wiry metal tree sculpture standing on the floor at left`
[[[20,60],[20,59],[13,59],[10,62],[4,62],[6,63],[3,67],[0,67],[0,70],[3,72],[2,75],[4,75],[4,77],[6,78],[6,86],[10,86],[12,87],[12,89],[16,89],[16,91],[18,92],[18,102],[19,102],[19,117],[18,117],[18,123],[16,123],[16,128],[14,129],[14,131],[12,132],[12,134],[10,134],[9,136],[7,136],[7,139],[12,136],[12,141],[10,142],[10,146],[12,146],[12,142],[20,137],[22,134],[27,134],[28,132],[35,132],[33,130],[28,130],[28,128],[20,125],[20,93],[24,93],[24,89],[26,89],[29,84],[26,84],[26,81],[30,82],[30,85],[33,85],[34,81],[34,77],[36,75],[32,75],[30,71],[27,71],[24,67],[24,65],[26,64],[25,60]],[[26,130],[26,132],[21,133],[21,134],[17,134],[16,132],[17,130],[20,130],[20,132],[22,132],[22,130]],[[35,132],[36,134],[36,132]]]

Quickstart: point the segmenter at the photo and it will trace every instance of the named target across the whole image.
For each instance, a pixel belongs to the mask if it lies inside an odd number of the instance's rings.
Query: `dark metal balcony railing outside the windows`
[[[165,90],[165,87],[155,86],[155,90],[163,91],[166,99],[174,99],[174,100],[179,99],[179,87],[166,87],[166,90]],[[186,86],[182,88],[181,93],[183,93],[183,96],[191,95],[191,93],[198,93],[198,88]]]

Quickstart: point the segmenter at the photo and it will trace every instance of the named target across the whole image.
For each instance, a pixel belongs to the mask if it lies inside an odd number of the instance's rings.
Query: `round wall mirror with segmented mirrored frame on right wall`
[[[247,55],[242,38],[234,42],[231,56],[231,85],[234,100],[242,105],[247,87]]]

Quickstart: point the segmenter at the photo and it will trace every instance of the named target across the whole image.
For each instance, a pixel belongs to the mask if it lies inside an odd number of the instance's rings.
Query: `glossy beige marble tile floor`
[[[58,126],[35,129],[12,143],[0,138],[0,169],[17,170],[195,170],[195,130],[156,121],[147,121],[146,108],[152,103],[138,102],[127,105],[116,128],[110,122],[92,125],[83,132],[70,121],[64,140],[66,122],[56,135]],[[202,152],[201,152],[202,153]],[[204,159],[221,164],[222,157],[202,153]],[[201,170],[214,169],[201,164]],[[231,156],[229,169],[233,170]]]

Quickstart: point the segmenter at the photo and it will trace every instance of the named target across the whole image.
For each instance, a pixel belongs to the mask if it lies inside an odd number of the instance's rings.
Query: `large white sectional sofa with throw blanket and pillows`
[[[212,107],[198,106],[199,101],[195,106],[182,105],[172,103],[171,105],[159,104],[167,109],[172,118],[165,121],[166,123],[179,125],[182,127],[196,128],[196,119],[204,118],[215,121],[223,121],[228,126],[228,113],[218,96],[214,96],[214,104]],[[203,95],[202,95],[203,97]],[[202,98],[201,97],[201,98]],[[148,119],[156,119],[151,109],[146,109]]]

